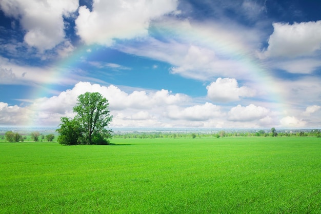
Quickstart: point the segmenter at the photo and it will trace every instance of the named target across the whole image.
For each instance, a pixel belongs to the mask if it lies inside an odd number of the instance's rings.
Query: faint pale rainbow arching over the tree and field
[[[182,43],[195,44],[196,46],[199,45],[201,47],[206,47],[209,50],[213,50],[220,59],[237,62],[237,65],[239,66],[238,69],[242,70],[239,75],[235,74],[235,76],[228,76],[228,73],[225,73],[215,77],[232,77],[238,81],[245,80],[252,82],[253,84],[255,82],[256,86],[259,86],[260,91],[263,93],[260,95],[264,96],[265,105],[269,105],[265,107],[277,112],[286,112],[286,107],[283,102],[285,99],[278,93],[278,90],[282,90],[282,86],[275,82],[271,72],[269,72],[264,64],[254,56],[252,50],[242,42],[237,41],[237,39],[228,32],[223,34],[217,33],[202,26],[196,27],[197,30],[195,30],[195,28],[192,28],[190,25],[182,24],[160,26],[160,28],[157,29],[160,30],[160,34],[166,32],[167,35],[172,36]],[[72,55],[54,63],[53,69],[49,72],[48,79],[70,79],[72,73],[70,73],[68,69],[78,67],[82,57],[89,58],[93,54],[98,54],[98,47],[99,46],[97,45],[77,47]],[[213,81],[215,80],[213,79]],[[37,90],[34,93],[36,93],[36,97],[42,98],[47,95],[44,91],[57,91],[55,87],[54,84],[43,85],[41,88],[45,88],[46,90]],[[282,117],[282,115],[279,116]]]

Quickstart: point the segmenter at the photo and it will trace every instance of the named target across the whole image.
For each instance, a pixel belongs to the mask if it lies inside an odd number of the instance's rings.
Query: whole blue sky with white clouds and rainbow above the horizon
[[[0,126],[321,128],[321,2],[2,0]]]

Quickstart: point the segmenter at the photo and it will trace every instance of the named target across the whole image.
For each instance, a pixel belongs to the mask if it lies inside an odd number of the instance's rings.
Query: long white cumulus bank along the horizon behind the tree
[[[185,94],[172,94],[168,90],[125,92],[117,86],[108,87],[88,82],[79,82],[72,89],[50,98],[31,101],[25,107],[0,103],[0,125],[57,126],[61,116],[72,117],[73,106],[79,94],[99,92],[109,100],[113,117],[112,127],[217,127],[260,128],[315,126],[317,118],[302,121],[295,117],[278,119],[280,112],[250,104],[237,105],[228,111],[228,106],[212,103],[193,103]],[[128,91],[128,89],[127,89]],[[309,106],[306,114],[319,112],[319,106]],[[292,112],[291,112],[292,113]],[[293,114],[294,115],[294,114]],[[308,116],[308,115],[306,115]]]

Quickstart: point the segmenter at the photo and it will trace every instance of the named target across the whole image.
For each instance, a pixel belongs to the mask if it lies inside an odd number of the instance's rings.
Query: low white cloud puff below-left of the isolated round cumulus
[[[169,106],[165,115],[173,120],[207,121],[224,116],[224,113],[220,111],[219,106],[205,103],[204,105],[195,105],[183,109],[178,106]]]

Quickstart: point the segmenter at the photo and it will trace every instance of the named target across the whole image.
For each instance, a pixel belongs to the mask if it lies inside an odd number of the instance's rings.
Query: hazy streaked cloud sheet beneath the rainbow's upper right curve
[[[150,37],[131,44],[115,44],[126,53],[147,56],[173,65],[170,72],[191,79],[209,80],[217,76],[249,79],[257,72],[255,62],[244,55],[254,54],[259,36],[255,29],[235,23],[197,23],[173,17],[152,22],[162,40]],[[185,33],[182,33],[185,32]]]

